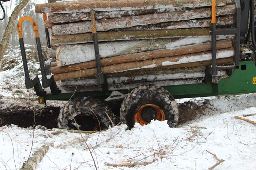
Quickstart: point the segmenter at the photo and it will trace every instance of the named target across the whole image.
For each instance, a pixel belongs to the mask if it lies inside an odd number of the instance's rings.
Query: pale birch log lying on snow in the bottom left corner
[[[34,170],[37,166],[37,163],[40,162],[48,152],[49,146],[54,147],[53,142],[47,143],[46,145],[40,147],[33,155],[33,157],[30,157],[25,163],[23,163],[23,166],[20,168],[20,170]]]

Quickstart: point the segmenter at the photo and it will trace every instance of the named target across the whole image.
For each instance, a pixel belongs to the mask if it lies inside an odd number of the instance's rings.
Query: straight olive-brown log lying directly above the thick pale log
[[[125,32],[98,32],[98,41],[116,40],[138,40],[138,39],[158,39],[187,36],[207,36],[211,35],[211,29],[170,29],[170,30],[147,30],[147,31],[125,31]],[[93,42],[91,33],[52,36],[52,46],[90,43]]]

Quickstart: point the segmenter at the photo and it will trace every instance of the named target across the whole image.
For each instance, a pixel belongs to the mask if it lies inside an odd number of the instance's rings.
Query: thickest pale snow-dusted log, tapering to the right
[[[174,39],[155,40],[132,40],[132,41],[110,41],[99,43],[99,54],[101,58],[132,54],[143,51],[168,48],[168,44],[177,41]],[[75,63],[82,63],[95,60],[93,43],[59,46],[56,53],[58,66],[67,66]]]

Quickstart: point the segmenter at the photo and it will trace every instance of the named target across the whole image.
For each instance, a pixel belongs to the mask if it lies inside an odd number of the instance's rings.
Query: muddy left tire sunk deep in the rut
[[[75,121],[69,112],[74,116],[80,130],[108,129],[111,122],[105,112],[108,113],[114,124],[116,122],[116,116],[108,104],[93,96],[74,98],[60,110],[58,127],[77,130]]]

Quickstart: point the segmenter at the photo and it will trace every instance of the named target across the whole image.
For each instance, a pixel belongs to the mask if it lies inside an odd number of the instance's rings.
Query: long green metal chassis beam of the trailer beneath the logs
[[[142,83],[143,84],[143,83]],[[256,92],[256,65],[255,60],[240,62],[239,69],[234,70],[229,78],[223,78],[218,83],[182,84],[163,86],[174,98],[195,98],[206,96],[238,95]],[[117,90],[118,91],[118,90]],[[131,90],[120,90],[123,94]],[[39,96],[38,102],[43,104],[46,100],[69,100],[78,96],[94,95],[98,98],[108,97],[112,91],[90,91],[61,93],[57,95]]]

